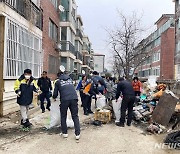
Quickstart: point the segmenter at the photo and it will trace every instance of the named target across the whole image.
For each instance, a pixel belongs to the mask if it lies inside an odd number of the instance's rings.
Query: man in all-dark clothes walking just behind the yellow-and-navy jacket
[[[52,92],[51,92],[52,91],[52,85],[51,85],[50,78],[47,77],[46,71],[43,71],[42,77],[39,78],[38,86],[40,87],[40,90],[42,91],[42,93],[40,94],[42,113],[45,112],[45,107],[44,107],[44,99],[45,98],[47,100],[46,109],[50,111],[50,106],[51,106],[50,96],[52,95]]]

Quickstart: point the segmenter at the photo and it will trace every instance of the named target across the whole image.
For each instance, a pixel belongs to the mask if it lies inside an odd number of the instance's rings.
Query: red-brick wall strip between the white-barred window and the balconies
[[[41,9],[43,12],[43,70],[48,72],[48,75],[51,79],[56,78],[59,66],[59,52],[56,50],[59,40],[59,0],[57,0],[56,2],[57,4],[53,5],[51,0],[41,0]],[[57,27],[56,40],[52,39],[49,36],[50,21],[52,21],[52,23],[55,24]]]

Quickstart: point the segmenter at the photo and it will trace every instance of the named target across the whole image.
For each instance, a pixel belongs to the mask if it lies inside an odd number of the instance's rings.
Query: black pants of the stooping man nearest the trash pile
[[[135,101],[135,96],[133,95],[123,96],[122,105],[121,105],[121,118],[120,118],[121,124],[125,123],[126,110],[128,110],[127,124],[131,124],[134,101]]]

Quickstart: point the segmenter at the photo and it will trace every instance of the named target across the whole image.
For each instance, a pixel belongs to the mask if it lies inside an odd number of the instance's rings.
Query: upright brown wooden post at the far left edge
[[[5,31],[5,17],[0,17],[0,116],[3,116],[3,66],[4,66],[4,31]]]

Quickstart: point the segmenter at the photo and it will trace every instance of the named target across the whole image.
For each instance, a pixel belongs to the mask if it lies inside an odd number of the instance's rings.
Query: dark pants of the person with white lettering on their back
[[[60,104],[61,129],[63,134],[67,134],[67,110],[70,109],[72,120],[74,122],[75,135],[80,135],[80,124],[78,117],[78,100],[63,101]]]

